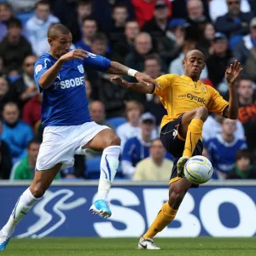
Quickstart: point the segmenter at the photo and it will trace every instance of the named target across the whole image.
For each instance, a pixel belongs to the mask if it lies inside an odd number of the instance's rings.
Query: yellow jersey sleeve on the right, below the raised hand
[[[211,95],[208,111],[223,116],[224,110],[229,106],[229,102],[226,102],[224,98],[219,95],[218,90],[215,90],[211,86],[207,86],[207,90]]]

